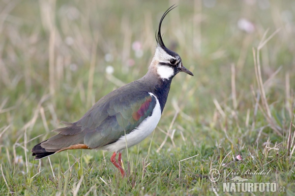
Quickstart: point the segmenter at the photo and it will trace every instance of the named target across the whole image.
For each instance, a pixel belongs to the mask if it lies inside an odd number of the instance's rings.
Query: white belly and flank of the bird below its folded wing
[[[127,147],[132,147],[148,137],[148,135],[156,128],[161,118],[161,106],[158,98],[152,93],[148,94],[156,98],[156,105],[152,110],[152,115],[140,123],[131,133],[121,136],[117,142],[104,147],[98,147],[97,149],[118,152],[126,147],[126,142]]]

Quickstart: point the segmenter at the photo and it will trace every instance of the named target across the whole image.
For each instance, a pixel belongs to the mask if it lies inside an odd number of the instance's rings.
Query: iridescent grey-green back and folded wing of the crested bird
[[[156,98],[143,89],[139,81],[118,88],[97,101],[77,122],[55,129],[58,135],[41,143],[46,149],[63,149],[73,145],[102,147],[116,142],[152,115]]]

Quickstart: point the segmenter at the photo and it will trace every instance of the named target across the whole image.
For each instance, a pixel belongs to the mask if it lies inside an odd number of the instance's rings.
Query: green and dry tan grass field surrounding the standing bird
[[[239,176],[285,187],[274,195],[295,194],[292,0],[177,3],[163,39],[195,76],[177,74],[153,134],[123,151],[126,178],[111,152],[33,160],[30,149],[60,121],[79,120],[147,72],[159,19],[172,4],[0,2],[0,195],[230,195],[209,191],[224,182],[212,183],[210,169],[270,171]],[[253,32],[238,27],[242,18]]]

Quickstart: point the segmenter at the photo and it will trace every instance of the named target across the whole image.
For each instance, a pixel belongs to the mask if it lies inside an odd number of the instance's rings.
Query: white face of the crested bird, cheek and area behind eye
[[[175,59],[177,63],[179,62],[180,59],[177,59],[173,56],[170,56],[163,50],[161,47],[156,48],[155,55],[153,57],[153,60],[159,62],[159,63],[170,63],[170,60]],[[176,63],[176,64],[177,64]],[[156,67],[158,75],[164,80],[164,79],[169,79],[173,75],[175,75],[173,68],[167,66],[167,65],[157,65]]]

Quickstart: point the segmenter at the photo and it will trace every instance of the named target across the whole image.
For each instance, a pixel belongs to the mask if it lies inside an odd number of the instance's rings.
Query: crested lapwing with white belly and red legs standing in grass
[[[137,145],[156,128],[174,76],[179,72],[193,76],[162,40],[162,22],[175,7],[169,7],[159,22],[157,46],[146,75],[100,98],[79,121],[62,121],[65,127],[54,129],[55,136],[31,149],[35,160],[69,149],[107,150],[114,152],[110,160],[126,176],[122,150]]]

